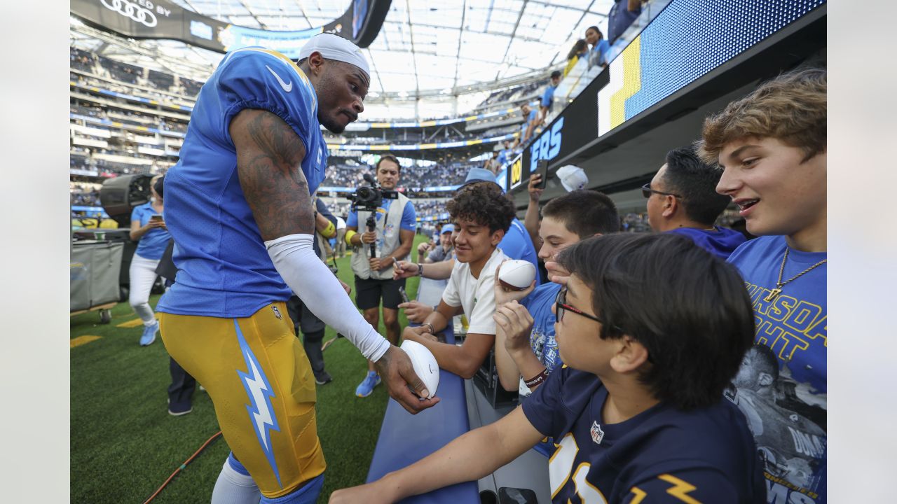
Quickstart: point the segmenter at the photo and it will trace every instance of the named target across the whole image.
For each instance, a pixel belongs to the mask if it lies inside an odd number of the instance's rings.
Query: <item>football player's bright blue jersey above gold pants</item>
[[[224,56],[199,91],[180,161],[165,178],[165,218],[179,272],[159,311],[248,317],[290,298],[239,186],[229,126],[243,109],[268,110],[299,135],[309,191],[325,177],[327,143],[309,78],[272,50],[242,48]]]

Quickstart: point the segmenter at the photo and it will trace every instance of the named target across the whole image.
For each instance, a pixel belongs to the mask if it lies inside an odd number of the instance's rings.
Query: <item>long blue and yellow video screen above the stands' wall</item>
[[[675,0],[523,151],[517,177],[563,158],[812,12],[825,0]]]

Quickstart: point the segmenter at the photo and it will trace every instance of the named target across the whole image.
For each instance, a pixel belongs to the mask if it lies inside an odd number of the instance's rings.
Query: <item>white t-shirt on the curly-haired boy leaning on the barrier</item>
[[[480,278],[474,278],[470,273],[470,265],[455,261],[446,290],[442,292],[442,300],[448,306],[464,308],[470,322],[468,334],[495,334],[495,321],[492,320],[495,313],[495,269],[508,258],[501,248],[493,250],[480,272]]]

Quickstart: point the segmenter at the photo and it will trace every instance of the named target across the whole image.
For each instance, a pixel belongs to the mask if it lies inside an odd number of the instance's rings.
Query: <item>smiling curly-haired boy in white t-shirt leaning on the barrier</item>
[[[495,269],[508,258],[498,244],[514,219],[514,205],[501,187],[473,184],[458,191],[446,208],[457,231],[457,262],[439,306],[422,326],[405,327],[402,337],[430,349],[441,369],[472,378],[495,343]],[[439,343],[434,334],[462,313],[470,321],[464,343]]]

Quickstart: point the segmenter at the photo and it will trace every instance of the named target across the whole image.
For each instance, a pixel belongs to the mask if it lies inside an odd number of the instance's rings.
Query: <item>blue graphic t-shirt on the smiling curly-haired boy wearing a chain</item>
[[[784,237],[746,242],[729,256],[753,301],[756,339],[727,391],[745,413],[763,463],[767,500],[826,501],[828,309],[826,265],[782,281],[826,258],[788,248]]]

